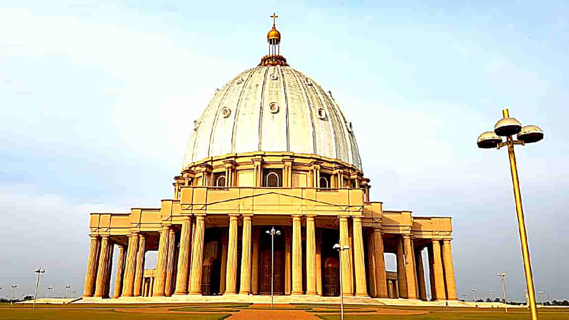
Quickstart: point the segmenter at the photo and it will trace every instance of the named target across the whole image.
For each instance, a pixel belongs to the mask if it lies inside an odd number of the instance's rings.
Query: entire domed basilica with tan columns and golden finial
[[[345,296],[427,300],[428,272],[432,300],[456,300],[451,218],[370,201],[352,123],[288,66],[274,23],[267,41],[261,63],[216,90],[194,122],[172,199],[90,214],[83,296],[270,294],[273,253],[277,295],[339,296],[342,281]],[[145,270],[148,251],[155,269]]]

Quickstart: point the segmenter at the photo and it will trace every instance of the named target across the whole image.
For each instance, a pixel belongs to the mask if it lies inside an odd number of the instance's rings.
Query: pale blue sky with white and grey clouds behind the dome
[[[193,120],[266,54],[269,15],[291,67],[353,123],[372,201],[453,218],[459,297],[523,300],[504,149],[508,107],[545,139],[516,147],[536,290],[569,299],[569,4],[563,1],[0,0],[0,297],[34,269],[83,292],[88,213],[172,196]],[[394,268],[387,257],[387,268]],[[148,259],[147,268],[153,268]]]

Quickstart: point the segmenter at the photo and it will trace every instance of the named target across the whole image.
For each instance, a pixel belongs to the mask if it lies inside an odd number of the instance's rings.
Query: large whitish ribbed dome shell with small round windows
[[[184,168],[253,151],[290,151],[339,159],[361,169],[352,124],[331,94],[287,66],[246,70],[216,90],[194,122]]]

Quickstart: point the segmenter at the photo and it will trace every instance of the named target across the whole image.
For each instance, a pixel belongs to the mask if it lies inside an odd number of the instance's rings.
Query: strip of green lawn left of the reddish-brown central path
[[[218,314],[159,314],[117,312],[109,309],[0,309],[2,320],[222,320],[229,313]]]

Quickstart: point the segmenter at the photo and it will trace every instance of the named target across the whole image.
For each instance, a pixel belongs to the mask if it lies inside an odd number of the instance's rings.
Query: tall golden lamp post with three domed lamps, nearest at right
[[[534,143],[543,139],[543,131],[538,126],[525,126],[514,118],[510,118],[508,109],[502,110],[504,118],[498,120],[494,131],[486,131],[478,137],[478,147],[483,149],[508,146],[510,156],[510,170],[512,171],[512,182],[514,184],[514,198],[516,199],[516,211],[518,214],[519,240],[522,243],[523,269],[526,274],[527,295],[529,297],[529,307],[531,319],[537,320],[537,306],[535,306],[535,290],[533,286],[533,276],[531,275],[530,251],[527,246],[526,223],[523,219],[522,196],[519,191],[518,169],[516,166],[516,155],[514,146],[526,143]],[[517,140],[513,136],[517,135]],[[502,141],[502,136],[506,141]]]

